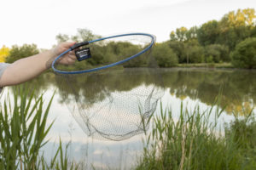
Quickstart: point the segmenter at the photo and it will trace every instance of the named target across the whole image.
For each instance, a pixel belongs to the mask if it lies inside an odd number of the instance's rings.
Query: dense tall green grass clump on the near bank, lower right
[[[162,108],[162,107],[161,107]],[[256,122],[252,112],[225,127],[218,127],[223,113],[217,108],[194,111],[161,110],[154,117],[152,133],[144,141],[136,169],[256,169]],[[210,115],[215,116],[212,122]],[[218,130],[217,130],[218,129]]]

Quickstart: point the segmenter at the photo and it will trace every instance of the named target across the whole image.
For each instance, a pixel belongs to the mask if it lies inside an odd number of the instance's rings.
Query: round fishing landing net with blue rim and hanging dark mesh
[[[160,71],[150,54],[154,45],[150,36],[125,34],[93,40],[73,49],[89,49],[90,53],[77,56],[85,59],[74,65],[53,63],[61,103],[88,136],[124,140],[148,129],[164,94]]]

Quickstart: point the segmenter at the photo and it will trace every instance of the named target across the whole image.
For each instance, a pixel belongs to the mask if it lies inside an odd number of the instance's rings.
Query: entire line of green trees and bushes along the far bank
[[[191,28],[180,27],[171,31],[166,42],[156,43],[152,56],[160,67],[172,67],[178,64],[191,63],[231,63],[234,67],[256,68],[256,15],[254,8],[238,9],[224,14],[221,20],[210,20],[201,26]],[[73,40],[76,42],[90,41],[101,36],[87,29],[79,29],[77,35],[59,34],[57,42]],[[5,47],[4,47],[5,48]],[[86,60],[78,67],[93,67],[113,62],[117,56],[129,56],[132,52],[141,50],[129,42],[112,42],[103,48],[94,46],[98,52],[94,58]],[[6,62],[14,62],[32,54],[38,54],[35,44],[13,46],[9,50]],[[127,67],[152,65],[147,54],[126,63]]]

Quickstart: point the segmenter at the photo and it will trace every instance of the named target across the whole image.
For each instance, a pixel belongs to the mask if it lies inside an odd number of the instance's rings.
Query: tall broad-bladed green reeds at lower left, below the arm
[[[51,122],[47,126],[49,108],[54,96],[44,107],[44,94],[35,98],[31,88],[19,86],[14,95],[7,95],[0,109],[0,169],[78,169],[68,161],[67,147],[62,149],[61,140],[55,156],[46,162],[40,152]]]

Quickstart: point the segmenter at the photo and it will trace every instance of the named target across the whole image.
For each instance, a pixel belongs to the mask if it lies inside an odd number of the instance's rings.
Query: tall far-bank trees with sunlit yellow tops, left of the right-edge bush
[[[256,35],[255,19],[253,8],[231,11],[221,20],[211,20],[200,27],[177,28],[171,32],[168,44],[179,63],[230,62],[230,49]],[[201,46],[205,47],[204,54]]]

